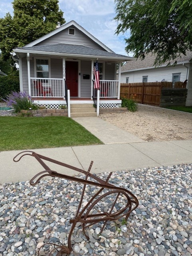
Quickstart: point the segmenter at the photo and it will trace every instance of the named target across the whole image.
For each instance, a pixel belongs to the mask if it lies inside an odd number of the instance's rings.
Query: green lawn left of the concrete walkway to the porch
[[[103,144],[68,117],[0,116],[0,151]]]

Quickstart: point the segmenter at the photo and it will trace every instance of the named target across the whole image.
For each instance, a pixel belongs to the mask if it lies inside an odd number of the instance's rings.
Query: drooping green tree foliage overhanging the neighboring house
[[[130,30],[127,52],[156,54],[155,65],[192,50],[191,0],[115,0],[116,33]]]

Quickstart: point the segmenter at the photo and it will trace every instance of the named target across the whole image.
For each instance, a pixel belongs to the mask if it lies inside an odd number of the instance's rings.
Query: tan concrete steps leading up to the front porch
[[[93,104],[71,104],[71,117],[97,116]]]

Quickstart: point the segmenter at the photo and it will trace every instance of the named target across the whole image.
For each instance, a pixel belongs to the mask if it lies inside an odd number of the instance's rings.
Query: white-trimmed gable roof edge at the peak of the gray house
[[[83,32],[86,36],[88,36],[91,40],[93,40],[95,43],[97,43],[99,46],[101,46],[104,50],[107,52],[113,52],[111,49],[109,49],[105,44],[103,44],[101,41],[99,41],[97,38],[95,38],[93,35],[91,35],[87,30],[85,30],[83,27],[81,27],[77,22],[74,20],[71,20],[68,23],[63,24],[59,28],[56,28],[55,30],[51,31],[50,33],[46,34],[45,36],[40,37],[39,39],[26,44],[25,47],[31,47],[35,46],[36,44],[48,39],[49,37],[65,30],[66,28],[69,28],[70,26],[75,26],[77,29],[79,29],[81,32]],[[114,52],[113,52],[114,53]]]

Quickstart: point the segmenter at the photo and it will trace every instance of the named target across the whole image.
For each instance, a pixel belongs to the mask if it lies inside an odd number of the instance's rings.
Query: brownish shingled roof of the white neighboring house
[[[127,62],[125,65],[121,67],[121,73],[135,71],[135,70],[144,70],[149,68],[155,68],[154,66],[154,60],[156,58],[155,54],[147,54],[144,58],[144,60],[137,59],[137,60],[131,60]],[[174,64],[175,61],[177,61],[177,64],[184,64],[188,63],[192,60],[192,52],[187,51],[186,55],[181,54],[181,57],[178,57],[171,61],[171,65]],[[165,62],[160,67],[164,67],[168,65],[168,61]]]

